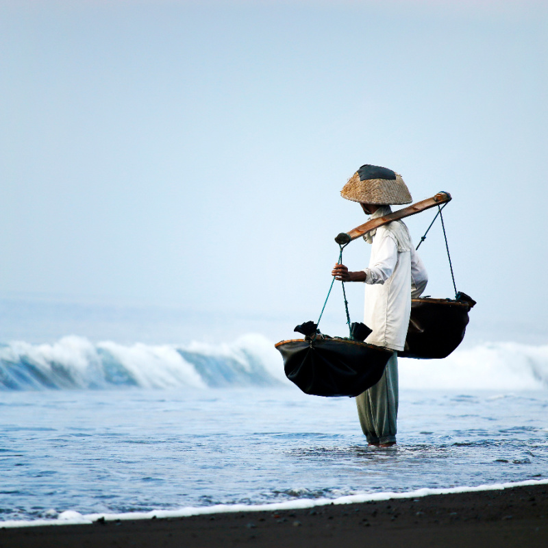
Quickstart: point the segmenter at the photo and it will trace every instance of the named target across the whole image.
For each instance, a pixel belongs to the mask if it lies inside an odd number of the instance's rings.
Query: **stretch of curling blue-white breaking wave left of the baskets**
[[[269,340],[247,335],[232,345],[92,344],[67,336],[53,344],[0,347],[0,389],[38,390],[275,386],[287,382]]]

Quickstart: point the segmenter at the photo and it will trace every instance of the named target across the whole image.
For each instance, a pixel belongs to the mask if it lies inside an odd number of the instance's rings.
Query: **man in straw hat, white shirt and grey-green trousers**
[[[401,175],[369,164],[354,173],[340,195],[359,202],[371,219],[390,213],[390,205],[412,201]],[[372,244],[369,267],[349,272],[344,264],[336,264],[332,275],[343,282],[365,282],[364,323],[373,329],[365,342],[393,351],[379,382],[356,397],[369,445],[390,447],[396,444],[397,433],[397,351],[406,342],[411,297],[421,295],[428,279],[403,221],[372,230],[364,240]]]

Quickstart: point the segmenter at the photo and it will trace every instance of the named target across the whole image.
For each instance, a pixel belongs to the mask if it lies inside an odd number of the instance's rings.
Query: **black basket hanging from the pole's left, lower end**
[[[345,338],[282,340],[286,377],[305,394],[356,397],[379,382],[392,351]]]

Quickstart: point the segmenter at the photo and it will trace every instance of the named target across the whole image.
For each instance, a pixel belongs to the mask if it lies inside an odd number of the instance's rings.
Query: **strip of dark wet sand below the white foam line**
[[[548,547],[548,485],[306,510],[0,529],[0,547]]]

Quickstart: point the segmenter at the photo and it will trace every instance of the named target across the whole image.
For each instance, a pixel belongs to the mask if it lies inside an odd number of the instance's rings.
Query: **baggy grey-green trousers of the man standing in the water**
[[[388,360],[377,384],[356,397],[358,417],[367,441],[375,445],[396,441],[398,416],[397,352]]]

